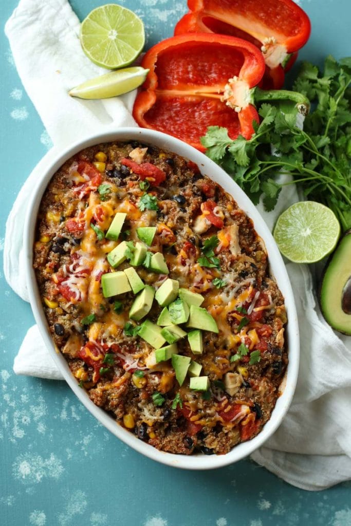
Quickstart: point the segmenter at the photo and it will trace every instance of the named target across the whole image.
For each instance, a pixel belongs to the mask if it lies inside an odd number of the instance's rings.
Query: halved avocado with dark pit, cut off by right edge
[[[351,336],[351,229],[345,232],[329,259],[319,301],[329,325]]]

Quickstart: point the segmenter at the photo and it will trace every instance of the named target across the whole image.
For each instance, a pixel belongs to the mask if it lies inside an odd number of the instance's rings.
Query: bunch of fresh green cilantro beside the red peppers
[[[210,126],[202,144],[246,194],[273,210],[283,186],[297,183],[306,198],[331,208],[343,229],[351,228],[351,57],[325,59],[324,70],[302,65],[294,89],[307,96],[311,112],[303,129],[287,102],[262,104],[254,135],[232,140],[226,128]],[[288,173],[291,180],[279,182]]]

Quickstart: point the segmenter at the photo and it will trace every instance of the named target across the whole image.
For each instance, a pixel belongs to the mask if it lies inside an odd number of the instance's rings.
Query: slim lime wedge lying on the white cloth
[[[117,69],[106,75],[87,80],[68,93],[72,97],[84,99],[117,97],[143,84],[148,72],[148,69],[139,66]]]

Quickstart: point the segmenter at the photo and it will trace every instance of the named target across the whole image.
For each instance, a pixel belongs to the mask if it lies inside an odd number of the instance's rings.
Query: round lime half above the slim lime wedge
[[[144,24],[116,4],[93,9],[81,25],[81,45],[94,64],[116,69],[131,64],[145,43]]]

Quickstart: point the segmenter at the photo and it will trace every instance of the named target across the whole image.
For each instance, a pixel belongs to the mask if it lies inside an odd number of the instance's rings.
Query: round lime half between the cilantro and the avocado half
[[[273,236],[283,256],[295,263],[314,263],[337,244],[340,224],[330,208],[301,201],[278,217]]]

